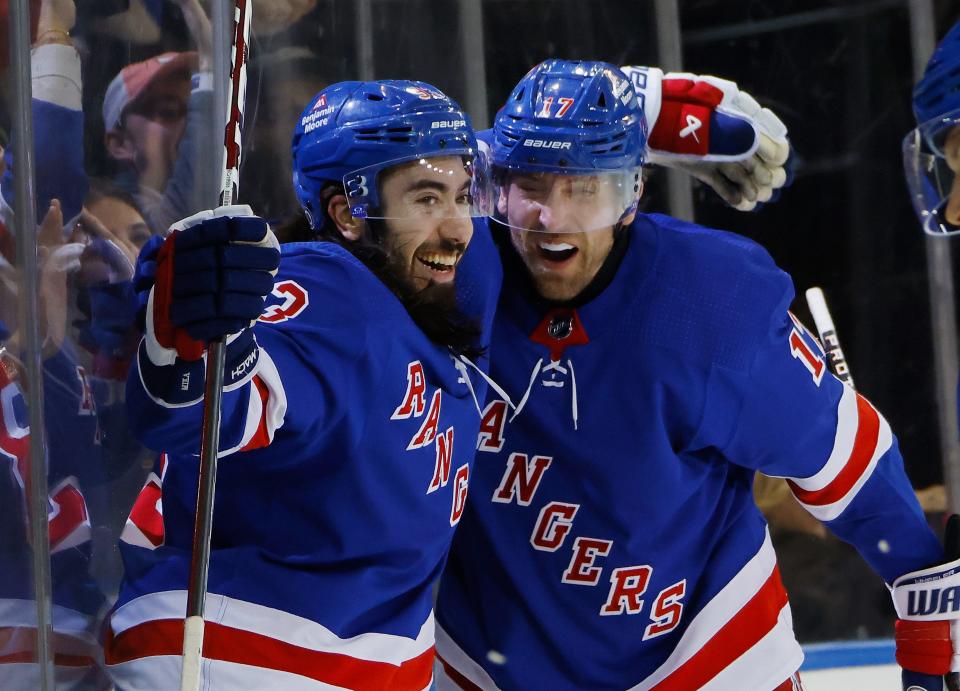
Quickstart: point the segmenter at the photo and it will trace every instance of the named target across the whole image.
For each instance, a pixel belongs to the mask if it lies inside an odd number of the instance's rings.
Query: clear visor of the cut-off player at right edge
[[[924,232],[960,233],[960,110],[910,132],[903,140],[903,165]]]

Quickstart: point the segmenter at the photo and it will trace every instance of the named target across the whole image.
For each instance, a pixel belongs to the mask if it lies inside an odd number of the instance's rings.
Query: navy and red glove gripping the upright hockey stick
[[[206,343],[250,326],[280,263],[276,237],[246,205],[202,211],[170,231],[147,308],[154,364],[171,364],[174,354],[198,360]]]

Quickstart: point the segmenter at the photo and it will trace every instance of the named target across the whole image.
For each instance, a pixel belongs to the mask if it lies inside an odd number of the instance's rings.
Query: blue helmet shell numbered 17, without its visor
[[[540,63],[513,89],[493,130],[491,162],[513,170],[635,169],[647,141],[630,80],[605,62]]]

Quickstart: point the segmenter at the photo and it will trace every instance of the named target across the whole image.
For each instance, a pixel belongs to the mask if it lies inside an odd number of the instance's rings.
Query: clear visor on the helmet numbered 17
[[[640,170],[503,171],[493,218],[516,230],[582,233],[611,228],[633,211]]]

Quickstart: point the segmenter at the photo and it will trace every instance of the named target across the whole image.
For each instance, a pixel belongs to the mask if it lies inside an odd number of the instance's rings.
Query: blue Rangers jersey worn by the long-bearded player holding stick
[[[478,224],[457,276],[465,310],[488,327],[493,255]],[[254,333],[256,364],[237,364],[249,375],[224,393],[231,452],[217,477],[203,683],[424,689],[432,586],[463,512],[486,383],[331,243],[283,247]],[[181,386],[181,369],[161,391],[156,369],[141,352],[128,405],[167,453],[124,531],[105,655],[131,691],[179,683],[197,491],[201,408],[181,391],[195,382]]]

